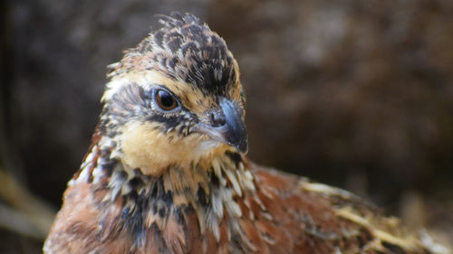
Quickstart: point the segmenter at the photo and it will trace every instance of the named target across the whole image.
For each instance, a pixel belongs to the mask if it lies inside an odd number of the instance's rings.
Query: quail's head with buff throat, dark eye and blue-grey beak
[[[101,131],[118,143],[123,163],[150,175],[245,154],[246,99],[225,41],[192,14],[159,22],[111,64]]]

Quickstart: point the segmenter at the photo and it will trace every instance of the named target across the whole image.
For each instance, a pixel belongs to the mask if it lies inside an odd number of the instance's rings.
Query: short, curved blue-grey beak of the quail
[[[213,140],[233,146],[245,154],[248,149],[246,124],[242,120],[241,108],[228,99],[220,99],[219,111],[210,114],[210,124],[198,123],[196,131]]]

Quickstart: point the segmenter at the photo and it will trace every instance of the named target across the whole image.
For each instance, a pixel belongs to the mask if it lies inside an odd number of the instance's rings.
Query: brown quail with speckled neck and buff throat
[[[159,23],[108,66],[44,253],[450,253],[353,193],[252,162],[226,42],[193,14]]]

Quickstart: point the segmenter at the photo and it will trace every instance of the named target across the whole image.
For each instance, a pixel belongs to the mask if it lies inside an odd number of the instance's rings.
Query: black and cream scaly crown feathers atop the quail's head
[[[226,42],[193,14],[173,13],[159,18],[162,27],[126,52],[111,66],[109,76],[155,70],[203,93],[226,94],[237,80],[236,61]]]

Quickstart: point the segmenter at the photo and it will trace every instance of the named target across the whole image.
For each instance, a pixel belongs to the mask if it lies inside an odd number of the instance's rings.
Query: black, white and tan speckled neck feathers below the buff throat
[[[121,220],[135,221],[131,230],[152,226],[162,230],[169,218],[184,221],[189,211],[195,212],[199,229],[210,230],[217,240],[224,218],[232,230],[228,235],[240,230],[237,219],[242,212],[236,201],[255,191],[253,175],[241,155],[226,151],[210,157],[209,163],[169,165],[156,177],[125,165],[113,139],[95,136],[94,142],[69,184],[92,183],[93,191],[100,193],[101,206],[120,203]]]

